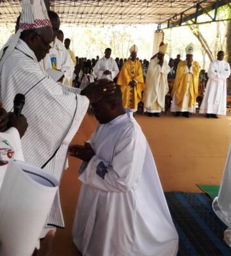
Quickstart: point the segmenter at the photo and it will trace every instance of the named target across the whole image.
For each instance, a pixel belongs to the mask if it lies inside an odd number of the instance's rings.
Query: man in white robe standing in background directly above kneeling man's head
[[[107,48],[104,57],[97,61],[93,68],[97,79],[107,78],[111,81],[117,76],[119,69],[116,61],[111,58],[111,49]]]

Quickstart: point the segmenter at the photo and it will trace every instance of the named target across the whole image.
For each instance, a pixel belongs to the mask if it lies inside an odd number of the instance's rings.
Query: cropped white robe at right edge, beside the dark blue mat
[[[227,161],[225,164],[225,170],[223,178],[221,180],[221,186],[219,193],[212,202],[212,208],[216,215],[219,217],[225,225],[228,226],[225,230],[225,243],[231,247],[231,143],[228,150]]]

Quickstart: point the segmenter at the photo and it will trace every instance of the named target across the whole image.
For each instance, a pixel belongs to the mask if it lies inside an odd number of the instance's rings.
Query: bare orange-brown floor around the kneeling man
[[[171,113],[160,118],[135,116],[147,137],[154,155],[164,191],[200,192],[196,184],[219,184],[228,145],[231,116],[218,119],[193,115],[174,117]],[[86,115],[72,143],[83,143],[94,131],[97,121]],[[61,205],[65,229],[57,230],[53,255],[81,255],[72,243],[72,222],[79,195],[77,169],[80,161],[69,157],[69,168],[61,181]]]

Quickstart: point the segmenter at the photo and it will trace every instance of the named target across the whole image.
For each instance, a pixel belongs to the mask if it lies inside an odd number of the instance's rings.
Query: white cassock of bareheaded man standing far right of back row
[[[230,65],[226,61],[212,61],[209,65],[209,81],[200,105],[200,114],[226,115],[227,112],[227,78]]]

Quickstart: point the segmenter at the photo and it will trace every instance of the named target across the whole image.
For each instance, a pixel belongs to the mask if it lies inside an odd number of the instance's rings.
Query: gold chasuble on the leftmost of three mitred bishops
[[[132,80],[136,81],[134,87],[129,85]],[[131,58],[129,58],[123,64],[117,84],[122,90],[123,108],[137,109],[138,103],[142,98],[141,93],[145,88],[141,63],[138,60],[133,62]]]

